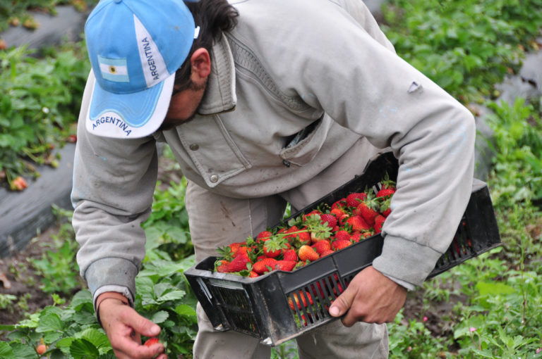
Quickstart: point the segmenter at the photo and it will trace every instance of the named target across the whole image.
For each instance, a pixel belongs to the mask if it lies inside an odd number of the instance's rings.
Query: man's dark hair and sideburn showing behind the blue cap
[[[222,36],[222,32],[232,30],[237,25],[237,16],[239,16],[237,10],[227,0],[200,0],[195,3],[187,2],[186,6],[194,17],[195,26],[200,27],[200,34],[197,39],[194,39],[186,60],[175,73],[174,92],[181,92],[191,87],[190,58],[193,52],[203,47],[211,53],[213,42]]]

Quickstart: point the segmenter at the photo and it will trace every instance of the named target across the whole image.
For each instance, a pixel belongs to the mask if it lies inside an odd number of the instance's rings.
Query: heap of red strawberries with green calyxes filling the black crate
[[[395,182],[383,179],[376,194],[373,189],[355,192],[287,223],[219,248],[215,272],[258,277],[274,270],[293,271],[335,251],[356,244],[382,230],[390,214]],[[335,291],[335,289],[334,289]]]

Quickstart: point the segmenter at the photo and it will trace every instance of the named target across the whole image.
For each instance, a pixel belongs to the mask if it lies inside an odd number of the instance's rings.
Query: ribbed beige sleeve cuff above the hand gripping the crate
[[[399,280],[419,286],[435,268],[440,256],[442,253],[433,248],[388,235],[384,239],[382,254],[373,260],[373,267],[394,282]]]

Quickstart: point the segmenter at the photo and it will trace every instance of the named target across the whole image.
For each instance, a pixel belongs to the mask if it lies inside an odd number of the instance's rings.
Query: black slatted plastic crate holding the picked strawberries
[[[299,210],[308,213],[321,203],[331,205],[351,192],[380,188],[385,173],[397,178],[392,153],[378,156],[364,171],[342,187]],[[475,180],[471,198],[450,248],[428,278],[469,258],[500,246],[500,236],[486,184]],[[235,330],[277,346],[316,327],[336,320],[327,309],[351,279],[380,256],[383,238],[376,234],[294,272],[275,270],[256,278],[212,272],[217,257],[208,257],[184,274],[215,329]],[[289,302],[299,302],[292,309]]]

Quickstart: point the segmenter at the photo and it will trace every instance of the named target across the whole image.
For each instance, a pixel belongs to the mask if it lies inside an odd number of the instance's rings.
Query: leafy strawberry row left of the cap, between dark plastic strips
[[[56,165],[49,155],[73,131],[90,70],[83,43],[41,59],[30,52],[0,52],[0,172],[8,182],[35,164]]]

